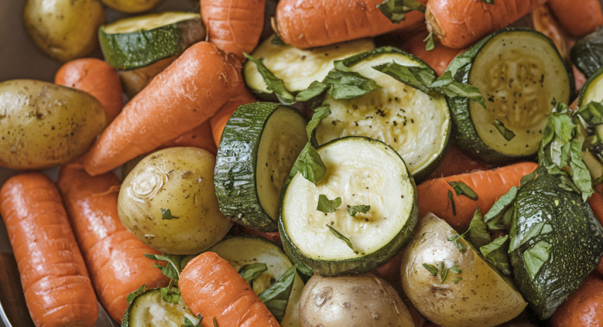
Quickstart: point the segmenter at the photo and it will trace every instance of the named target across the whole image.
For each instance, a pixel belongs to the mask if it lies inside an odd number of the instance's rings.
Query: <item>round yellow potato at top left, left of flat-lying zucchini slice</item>
[[[98,0],[27,0],[23,22],[40,51],[68,62],[98,47],[105,10]]]

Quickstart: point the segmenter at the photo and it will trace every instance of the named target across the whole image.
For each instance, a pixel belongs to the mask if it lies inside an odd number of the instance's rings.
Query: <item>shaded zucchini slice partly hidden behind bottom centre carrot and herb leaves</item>
[[[253,291],[256,294],[262,293],[274,281],[285,273],[293,265],[285,252],[279,246],[262,237],[238,236],[226,238],[216,243],[208,251],[218,253],[218,255],[230,262],[238,271],[244,265],[254,263],[264,263],[268,270],[264,271],[253,281]],[[285,317],[280,325],[298,327],[301,326],[299,318],[299,300],[301,290],[304,284],[299,275],[295,275],[293,288],[289,295],[289,302],[285,311]]]

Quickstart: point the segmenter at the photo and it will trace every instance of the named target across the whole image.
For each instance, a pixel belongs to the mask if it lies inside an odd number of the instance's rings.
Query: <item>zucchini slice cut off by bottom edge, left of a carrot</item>
[[[161,289],[153,288],[134,297],[125,311],[121,327],[180,327],[185,324],[185,317],[193,325],[199,323],[199,319],[182,299],[178,304],[165,302],[161,298]]]

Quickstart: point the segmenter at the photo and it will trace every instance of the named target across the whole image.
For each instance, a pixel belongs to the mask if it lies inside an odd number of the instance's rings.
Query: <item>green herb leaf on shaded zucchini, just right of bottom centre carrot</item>
[[[285,310],[289,303],[289,296],[293,288],[293,282],[295,280],[295,272],[297,271],[297,265],[289,268],[283,273],[280,278],[270,285],[266,290],[260,293],[260,301],[262,301],[280,323],[285,317]]]

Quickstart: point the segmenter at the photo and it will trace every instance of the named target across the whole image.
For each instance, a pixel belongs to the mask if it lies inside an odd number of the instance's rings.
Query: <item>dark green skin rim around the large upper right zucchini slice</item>
[[[471,69],[473,67],[473,61],[477,57],[479,51],[490,41],[494,36],[497,36],[500,33],[507,33],[513,31],[530,31],[532,33],[542,34],[538,31],[531,30],[529,28],[523,27],[507,27],[502,28],[494,33],[491,33],[484,39],[481,39],[478,43],[475,43],[471,48],[467,51],[463,52],[456,56],[456,59],[470,59],[470,63],[463,68],[459,69],[456,72],[455,80],[461,83],[469,83],[469,75]],[[544,34],[542,34],[544,36]],[[546,36],[545,36],[546,37]],[[548,39],[548,37],[547,37]],[[564,60],[563,57],[559,54],[557,50],[557,46],[555,43],[548,39],[549,43],[551,43],[551,47],[557,52],[560,60],[563,62],[567,75],[569,77],[569,85],[570,85],[570,94],[574,94],[574,80],[573,80],[573,72],[567,63],[567,60]],[[570,99],[571,100],[571,99]],[[488,147],[481,138],[479,138],[478,132],[473,125],[473,121],[471,119],[471,114],[469,112],[469,99],[467,98],[452,98],[449,100],[450,104],[450,117],[452,118],[452,138],[463,151],[465,151],[470,156],[475,157],[476,159],[483,160],[487,163],[510,163],[515,162],[517,160],[533,160],[536,158],[536,153],[531,156],[508,156],[507,154],[502,154],[498,151],[493,150]]]

